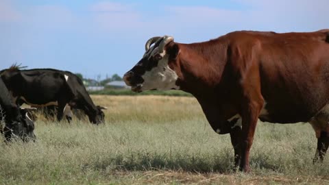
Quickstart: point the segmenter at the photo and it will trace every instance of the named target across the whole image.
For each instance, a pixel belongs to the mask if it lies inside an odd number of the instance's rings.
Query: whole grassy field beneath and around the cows
[[[35,143],[1,145],[1,184],[329,184],[310,125],[258,123],[252,173],[193,97],[101,96],[106,124],[36,121]]]

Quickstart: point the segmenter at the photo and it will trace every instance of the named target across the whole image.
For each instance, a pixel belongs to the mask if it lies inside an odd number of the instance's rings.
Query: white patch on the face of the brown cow
[[[152,51],[151,56],[154,55],[155,51],[158,48]],[[180,89],[175,83],[178,79],[178,75],[170,69],[168,65],[169,56],[166,55],[166,51],[160,53],[162,59],[158,61],[158,66],[151,69],[151,71],[146,71],[144,75],[142,75],[144,82],[142,84],[141,90],[170,90],[170,89]]]

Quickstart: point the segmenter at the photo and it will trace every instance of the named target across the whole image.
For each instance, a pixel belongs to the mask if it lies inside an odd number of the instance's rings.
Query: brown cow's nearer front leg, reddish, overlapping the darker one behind
[[[240,170],[249,172],[249,151],[254,140],[254,133],[258,121],[258,115],[263,108],[264,101],[252,101],[246,103],[242,116],[241,134],[241,163]]]

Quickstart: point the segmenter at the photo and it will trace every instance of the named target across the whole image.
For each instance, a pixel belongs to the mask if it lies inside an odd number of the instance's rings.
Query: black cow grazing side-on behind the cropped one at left
[[[16,99],[30,106],[58,106],[57,119],[63,116],[66,103],[73,103],[77,109],[84,110],[91,123],[104,121],[101,108],[95,106],[88,95],[82,80],[69,71],[56,69],[19,70],[17,67],[0,72],[8,90]]]

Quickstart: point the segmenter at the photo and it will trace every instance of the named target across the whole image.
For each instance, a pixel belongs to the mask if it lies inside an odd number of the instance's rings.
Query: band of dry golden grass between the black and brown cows
[[[106,110],[108,123],[168,122],[204,116],[197,100],[193,97],[93,95],[93,100],[97,105],[108,108]]]

